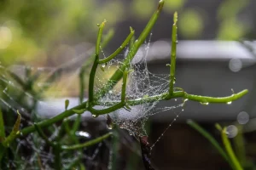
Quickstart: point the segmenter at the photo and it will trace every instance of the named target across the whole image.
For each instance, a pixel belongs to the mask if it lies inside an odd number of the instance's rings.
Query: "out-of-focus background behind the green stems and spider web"
[[[47,87],[47,90],[32,98],[44,99],[49,105],[42,106],[39,102],[36,111],[43,110],[41,112],[49,116],[57,114],[63,109],[64,98],[77,100],[73,105],[79,104],[79,68],[94,52],[96,24],[106,19],[105,32],[114,30],[113,39],[103,49],[103,54],[111,54],[129,34],[129,26],[135,29],[136,37],[139,36],[157,3],[156,0],[2,0],[0,65],[22,80],[27,79],[28,70],[37,73],[39,78],[34,89]],[[166,0],[150,37],[148,70],[160,74],[169,72],[163,65],[170,62],[172,14],[177,11],[176,87],[189,94],[209,96],[226,96],[245,88],[249,89],[249,94],[231,105],[187,102],[177,122],[154,146],[152,158],[158,169],[229,169],[212,145],[186,124],[187,119],[200,122],[218,141],[220,136],[214,128],[215,122],[230,126],[236,125],[240,118],[247,119],[242,123],[243,140],[247,159],[255,161],[255,8],[254,0]],[[146,53],[143,48],[140,51]],[[44,82],[56,70],[61,72],[57,72],[60,73],[58,78]],[[90,68],[87,76],[89,71]],[[86,79],[85,84],[87,86]],[[1,91],[5,89],[2,88]],[[84,98],[87,97],[86,89]],[[24,91],[31,92],[29,90]],[[15,98],[15,91],[9,93],[15,104],[1,94],[3,105],[8,101],[15,109],[19,108],[22,102]],[[160,107],[164,105],[170,104],[159,104]],[[150,141],[158,139],[174,117],[170,111],[151,117],[148,123]],[[126,158],[119,159],[122,162]]]

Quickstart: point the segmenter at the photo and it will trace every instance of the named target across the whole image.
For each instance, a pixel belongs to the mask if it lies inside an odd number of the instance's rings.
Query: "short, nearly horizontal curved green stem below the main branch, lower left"
[[[88,142],[85,142],[84,144],[74,144],[74,145],[71,145],[71,146],[62,145],[61,150],[78,150],[78,149],[81,149],[81,148],[84,148],[84,147],[88,147],[88,146],[91,146],[91,145],[94,145],[94,144],[98,144],[98,143],[102,142],[102,140],[104,140],[104,139],[108,139],[108,137],[111,136],[111,135],[112,135],[112,133],[107,133],[107,134],[104,134],[101,137],[98,137],[96,139],[92,139]]]

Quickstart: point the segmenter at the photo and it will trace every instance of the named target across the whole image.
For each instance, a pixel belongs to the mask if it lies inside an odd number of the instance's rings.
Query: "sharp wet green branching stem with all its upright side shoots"
[[[125,41],[120,45],[120,47],[113,52],[113,54],[110,54],[107,58],[105,59],[100,59],[99,57],[99,51],[101,48],[101,43],[102,45],[106,44],[106,42],[109,41],[109,39],[112,36],[108,36],[106,38],[105,42],[102,42],[102,32],[103,28],[106,25],[107,21],[104,20],[101,25],[99,25],[99,31],[97,35],[97,40],[96,40],[96,51],[95,54],[90,57],[90,61],[93,62],[93,65],[90,70],[90,79],[89,79],[89,99],[87,101],[83,101],[83,94],[84,94],[84,71],[86,70],[85,67],[87,67],[89,64],[85,64],[82,66],[79,77],[80,77],[80,105],[77,105],[71,109],[68,109],[66,111],[63,111],[57,116],[54,116],[50,119],[44,120],[42,122],[37,122],[36,126],[39,128],[44,128],[44,127],[49,127],[50,125],[53,125],[55,122],[60,122],[63,121],[65,118],[69,116],[73,116],[74,114],[82,114],[84,111],[90,111],[90,113],[93,116],[99,116],[99,115],[104,115],[111,113],[113,111],[117,111],[121,108],[128,109],[130,106],[133,105],[141,105],[141,104],[146,104],[146,103],[153,103],[155,101],[160,101],[160,100],[170,100],[170,99],[175,99],[175,98],[182,98],[184,101],[185,100],[193,100],[196,102],[201,102],[201,103],[230,103],[236,99],[240,99],[243,95],[247,94],[247,89],[242,90],[241,92],[237,94],[232,94],[227,97],[222,97],[222,98],[215,98],[215,97],[208,97],[208,96],[200,96],[200,95],[194,95],[194,94],[187,94],[183,88],[174,88],[174,82],[175,82],[175,70],[176,70],[176,46],[177,46],[177,13],[174,14],[174,24],[172,26],[172,54],[171,54],[171,68],[170,68],[170,88],[168,93],[164,94],[158,94],[154,96],[148,96],[147,98],[140,98],[140,99],[128,99],[125,100],[125,88],[126,88],[126,79],[130,71],[128,71],[128,68],[130,68],[131,60],[134,58],[135,54],[137,54],[137,50],[141,47],[143,42],[145,41],[146,37],[148,37],[148,34],[152,30],[152,27],[154,26],[156,20],[160,16],[160,11],[162,10],[164,6],[165,1],[160,0],[158,4],[158,8],[152,15],[151,19],[148,21],[148,25],[145,26],[143,32],[140,34],[140,36],[137,38],[136,41],[133,40],[134,36],[134,30],[130,28],[130,34],[125,38]],[[113,35],[113,33],[112,33]],[[133,42],[134,41],[134,42]],[[117,56],[124,48],[125,46],[129,43],[131,45],[130,51],[127,54],[127,57],[125,58],[124,62],[122,65],[119,66],[117,71],[113,73],[113,76],[109,78],[108,82],[106,85],[102,88],[100,92],[95,93],[94,92],[94,81],[96,77],[96,70],[98,69],[98,66],[101,67],[101,65],[105,65],[113,59],[114,57]],[[89,62],[90,63],[90,62]],[[102,68],[102,71],[104,71],[104,68]],[[102,105],[98,100],[101,99],[105,94],[108,93],[109,90],[111,90],[121,79],[123,79],[123,86],[122,86],[122,91],[121,91],[121,100],[119,102],[108,102],[107,105],[112,105],[109,106],[107,109],[102,109],[102,110],[96,110],[94,108],[95,105]],[[175,90],[177,89],[177,90]],[[79,116],[80,117],[80,116]],[[80,118],[78,118],[78,123],[80,122]],[[78,128],[78,123],[76,123],[76,126],[73,127],[73,130],[76,130]],[[36,131],[35,125],[25,127],[20,130],[20,133],[15,135],[15,138],[20,137],[20,135],[27,135],[29,133],[33,133]],[[73,131],[74,132],[74,131]],[[111,135],[110,133],[108,136]],[[107,136],[107,137],[108,137]],[[106,137],[106,136],[104,136]],[[12,136],[13,138],[13,136]],[[99,140],[96,140],[96,142],[102,141],[102,138]],[[81,147],[86,146],[84,144]],[[64,147],[62,149],[68,150],[68,149],[78,149],[80,148],[79,144],[69,146],[69,147]]]

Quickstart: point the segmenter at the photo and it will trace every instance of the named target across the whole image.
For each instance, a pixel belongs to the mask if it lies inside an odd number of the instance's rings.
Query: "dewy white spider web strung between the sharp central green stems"
[[[127,70],[131,70],[131,73],[128,76],[126,85],[126,99],[145,99],[149,96],[167,93],[169,90],[170,75],[154,74],[148,71],[147,57],[151,37],[152,33],[150,34],[148,42],[144,43],[143,47],[138,50],[135,57],[130,61],[130,66]],[[119,66],[123,64],[129,50],[132,50],[132,48],[129,49],[126,47],[125,54],[119,56],[117,59],[112,59],[107,65],[103,65],[104,71],[97,71],[98,84],[96,92],[101,92],[108,81],[105,75],[112,75],[111,73],[114,69],[119,69]],[[102,55],[104,58],[106,57],[103,51]],[[121,82],[122,81],[112,90],[109,90],[104,97],[99,99],[100,103],[105,106],[103,108],[109,107],[111,103],[120,101]],[[160,101],[154,101],[153,103],[131,106],[131,110],[125,108],[119,109],[118,111],[110,113],[109,116],[113,120],[113,123],[117,124],[120,128],[124,128],[128,133],[138,139],[139,137],[148,136],[144,126],[150,116],[154,116],[162,111],[170,111],[183,107],[183,102],[173,106],[156,107],[159,102]],[[176,120],[177,116],[174,120]]]

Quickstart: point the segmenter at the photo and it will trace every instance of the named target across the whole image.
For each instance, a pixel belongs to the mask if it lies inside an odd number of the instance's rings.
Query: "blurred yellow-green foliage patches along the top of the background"
[[[250,0],[224,0],[218,4],[216,38],[238,40],[247,35],[251,28],[247,20],[238,19],[238,14],[249,3]],[[112,27],[131,16],[148,20],[154,4],[154,0],[0,1],[0,60],[3,65],[46,65],[49,58],[55,57],[52,53],[56,44],[95,42],[97,23],[108,19],[108,26]],[[179,12],[179,34],[184,39],[202,38],[211,22],[206,9],[190,1],[167,0],[164,10],[167,14]]]

